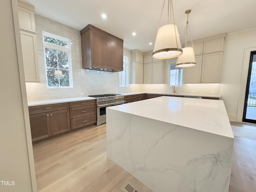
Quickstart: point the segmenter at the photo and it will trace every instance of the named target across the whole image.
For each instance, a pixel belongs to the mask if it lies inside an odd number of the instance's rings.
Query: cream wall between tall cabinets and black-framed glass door
[[[244,62],[245,50],[256,47],[256,28],[230,33],[224,41],[224,54],[220,84],[220,94],[228,117],[232,121],[238,120],[238,104],[244,102],[244,94],[249,63]],[[252,48],[256,50],[256,48]],[[238,121],[241,121],[239,119]]]

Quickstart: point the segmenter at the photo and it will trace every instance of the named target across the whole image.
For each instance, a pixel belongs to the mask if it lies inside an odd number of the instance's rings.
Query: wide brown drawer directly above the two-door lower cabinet
[[[40,106],[32,106],[28,107],[29,114],[38,114],[38,113],[45,113],[51,111],[58,111],[68,109],[68,103],[58,103],[58,104],[51,104],[51,105],[40,105]]]

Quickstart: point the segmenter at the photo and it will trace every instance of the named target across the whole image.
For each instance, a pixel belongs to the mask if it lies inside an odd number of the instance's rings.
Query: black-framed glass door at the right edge
[[[243,122],[256,124],[256,51],[251,52],[250,56]]]

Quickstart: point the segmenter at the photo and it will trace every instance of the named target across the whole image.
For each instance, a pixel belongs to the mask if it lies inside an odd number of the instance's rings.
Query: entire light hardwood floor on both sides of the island
[[[107,158],[105,124],[36,144],[33,150],[38,192],[122,192],[128,182],[139,192],[151,192]],[[256,192],[255,168],[256,140],[235,136],[229,192]]]

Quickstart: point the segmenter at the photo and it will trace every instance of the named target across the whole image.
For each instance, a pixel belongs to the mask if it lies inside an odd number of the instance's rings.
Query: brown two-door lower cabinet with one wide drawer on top
[[[68,103],[29,107],[32,142],[70,130]]]

